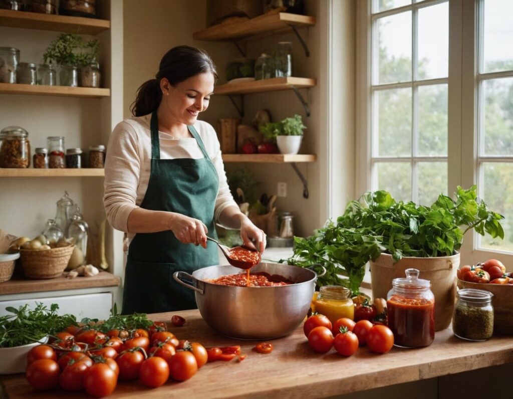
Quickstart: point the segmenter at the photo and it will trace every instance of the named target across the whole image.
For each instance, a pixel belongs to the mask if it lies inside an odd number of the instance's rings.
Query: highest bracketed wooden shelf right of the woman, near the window
[[[243,20],[241,18],[239,21],[214,25],[210,28],[194,32],[193,37],[196,40],[228,41],[287,30],[291,26],[299,28],[312,25],[315,25],[314,16],[271,12],[251,18],[250,20]]]

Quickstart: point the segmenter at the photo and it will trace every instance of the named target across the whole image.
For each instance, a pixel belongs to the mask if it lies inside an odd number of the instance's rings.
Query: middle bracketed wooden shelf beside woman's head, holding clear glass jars
[[[308,78],[271,78],[241,83],[225,83],[214,88],[215,94],[250,94],[266,91],[302,89],[315,86],[315,79]]]

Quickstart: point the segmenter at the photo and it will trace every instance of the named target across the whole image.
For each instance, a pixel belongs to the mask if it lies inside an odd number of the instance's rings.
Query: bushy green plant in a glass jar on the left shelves
[[[60,66],[61,86],[78,86],[77,68],[96,63],[99,54],[100,42],[96,39],[86,42],[76,33],[62,33],[50,42],[43,58],[47,64]]]

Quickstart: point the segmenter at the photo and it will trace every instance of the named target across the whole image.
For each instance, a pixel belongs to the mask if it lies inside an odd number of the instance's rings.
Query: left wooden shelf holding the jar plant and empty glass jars
[[[24,85],[0,83],[0,94],[29,94],[31,96],[65,96],[103,98],[110,96],[110,89],[96,87]]]

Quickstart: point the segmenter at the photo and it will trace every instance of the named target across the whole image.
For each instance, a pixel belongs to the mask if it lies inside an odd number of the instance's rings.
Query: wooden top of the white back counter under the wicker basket
[[[0,283],[0,295],[21,294],[24,292],[76,290],[92,287],[117,287],[121,278],[108,272],[100,272],[94,277],[66,278],[64,276],[45,280],[31,280],[24,276],[13,276]]]

